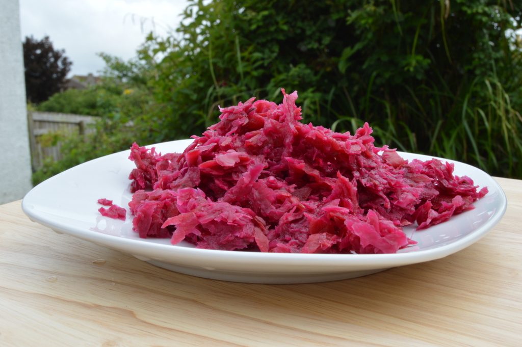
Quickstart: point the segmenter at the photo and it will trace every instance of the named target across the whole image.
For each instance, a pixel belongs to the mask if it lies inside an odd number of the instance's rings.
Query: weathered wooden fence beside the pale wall
[[[93,131],[89,124],[96,122],[96,119],[97,117],[78,114],[29,111],[29,143],[33,170],[42,167],[46,157],[53,160],[62,159],[60,136],[87,134]],[[57,141],[50,141],[53,135],[56,135]]]

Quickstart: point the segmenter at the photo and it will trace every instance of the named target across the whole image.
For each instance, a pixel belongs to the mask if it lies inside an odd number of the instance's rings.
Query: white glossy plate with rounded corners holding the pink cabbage
[[[192,140],[154,145],[158,151],[181,152]],[[151,146],[148,146],[151,147]],[[425,155],[399,152],[405,159],[429,160]],[[489,193],[475,209],[426,230],[405,232],[418,244],[397,254],[278,254],[173,246],[168,239],[139,238],[132,216],[125,222],[100,215],[99,198],[127,209],[132,194],[128,175],[134,163],[129,151],[78,165],[34,187],[23,198],[22,209],[35,222],[62,233],[129,253],[138,259],[193,276],[252,283],[322,282],[363,276],[384,269],[445,257],[478,241],[500,221],[506,210],[502,188],[476,167],[455,163],[456,175],[468,175]]]

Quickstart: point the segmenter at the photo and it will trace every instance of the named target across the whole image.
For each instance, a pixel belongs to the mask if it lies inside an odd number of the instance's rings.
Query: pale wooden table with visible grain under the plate
[[[154,267],[0,206],[0,346],[522,345],[522,181],[502,221],[444,259],[298,285]]]

